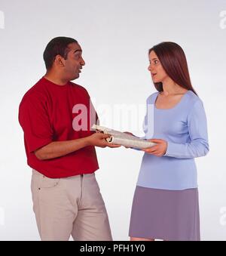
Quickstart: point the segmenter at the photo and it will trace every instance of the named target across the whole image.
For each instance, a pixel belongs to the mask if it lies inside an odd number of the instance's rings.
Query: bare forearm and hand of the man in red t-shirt
[[[39,160],[54,159],[60,156],[66,156],[76,150],[80,150],[87,146],[96,147],[119,147],[109,145],[105,138],[109,137],[108,134],[96,133],[88,137],[83,137],[77,140],[66,140],[66,141],[53,141],[38,150],[35,150],[35,156]]]

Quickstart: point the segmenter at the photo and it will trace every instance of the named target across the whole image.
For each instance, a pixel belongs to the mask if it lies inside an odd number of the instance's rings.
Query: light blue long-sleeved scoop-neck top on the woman
[[[203,102],[193,91],[187,91],[173,108],[157,109],[158,94],[147,99],[147,109],[153,111],[145,116],[145,139],[166,140],[167,150],[162,157],[144,154],[137,185],[163,190],[196,188],[194,158],[209,151]]]

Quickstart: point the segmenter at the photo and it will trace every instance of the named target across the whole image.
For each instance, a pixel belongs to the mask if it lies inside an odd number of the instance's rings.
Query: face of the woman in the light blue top
[[[169,77],[154,51],[151,51],[149,54],[149,62],[150,65],[148,66],[148,70],[151,72],[151,79],[154,83],[163,82]]]

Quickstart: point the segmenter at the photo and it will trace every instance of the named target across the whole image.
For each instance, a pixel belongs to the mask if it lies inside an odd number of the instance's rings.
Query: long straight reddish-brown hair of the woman
[[[173,79],[182,88],[191,90],[194,94],[197,94],[191,85],[185,52],[179,45],[174,42],[161,42],[149,49],[148,54],[151,51],[154,51],[157,55],[170,79]],[[154,83],[154,87],[157,91],[163,91],[163,84],[161,82]]]

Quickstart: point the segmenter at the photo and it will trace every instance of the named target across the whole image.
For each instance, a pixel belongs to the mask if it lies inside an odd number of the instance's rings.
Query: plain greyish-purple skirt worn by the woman
[[[137,186],[129,236],[200,241],[198,190],[157,190]]]

